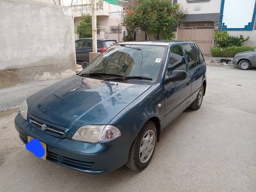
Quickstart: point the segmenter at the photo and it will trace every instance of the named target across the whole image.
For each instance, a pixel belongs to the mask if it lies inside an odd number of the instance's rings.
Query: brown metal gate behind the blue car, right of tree
[[[204,56],[211,56],[210,49],[213,46],[214,24],[212,21],[181,22],[177,39],[196,42]]]

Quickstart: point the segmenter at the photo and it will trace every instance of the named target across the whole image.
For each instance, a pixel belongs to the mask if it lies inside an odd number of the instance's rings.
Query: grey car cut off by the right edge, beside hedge
[[[233,65],[238,65],[241,70],[248,70],[251,67],[256,67],[256,49],[251,51],[240,52],[235,55]]]

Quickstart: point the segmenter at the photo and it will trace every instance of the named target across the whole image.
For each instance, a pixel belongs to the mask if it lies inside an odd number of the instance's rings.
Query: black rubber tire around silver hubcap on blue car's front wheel
[[[146,163],[141,163],[140,162],[140,156],[141,153],[140,152],[140,148],[141,148],[141,144],[142,144],[142,139],[144,137],[144,135],[149,131],[149,130],[153,130],[153,132],[155,133],[155,143],[154,143],[154,147],[150,150],[153,150],[153,153],[151,154],[150,158],[147,160]],[[142,171],[144,170],[148,164],[150,163],[155,149],[156,149],[156,138],[157,138],[157,133],[156,133],[156,125],[152,122],[152,121],[148,121],[146,122],[143,127],[140,129],[138,135],[136,136],[136,138],[133,140],[132,142],[132,146],[130,149],[130,153],[129,153],[129,157],[128,157],[128,161],[126,163],[126,166],[134,171]],[[153,144],[153,143],[152,143]]]

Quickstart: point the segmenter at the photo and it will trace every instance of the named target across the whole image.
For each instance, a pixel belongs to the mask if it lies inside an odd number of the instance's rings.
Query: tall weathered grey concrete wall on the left
[[[0,0],[0,88],[75,74],[69,7]]]

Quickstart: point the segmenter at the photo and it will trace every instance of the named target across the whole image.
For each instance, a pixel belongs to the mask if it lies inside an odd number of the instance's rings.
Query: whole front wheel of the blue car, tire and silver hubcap
[[[145,169],[152,159],[156,148],[156,125],[148,121],[134,139],[126,166],[134,171]]]

